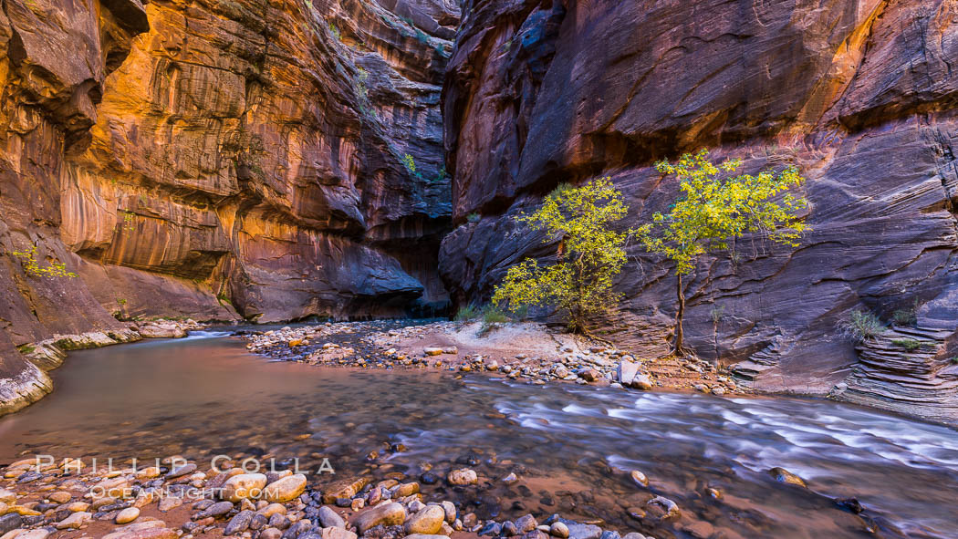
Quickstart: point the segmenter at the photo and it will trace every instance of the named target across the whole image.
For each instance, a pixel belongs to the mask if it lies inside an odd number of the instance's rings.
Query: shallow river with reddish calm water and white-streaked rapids
[[[224,454],[314,471],[328,458],[336,474],[311,475],[319,487],[469,466],[488,481],[440,482],[427,497],[482,518],[558,512],[659,538],[958,537],[958,433],[833,402],[317,368],[266,361],[226,332],[72,352],[53,375],[52,395],[0,418],[0,462]],[[809,489],[777,483],[774,466]],[[511,472],[519,481],[503,483]],[[681,520],[630,517],[650,493]],[[835,505],[846,497],[866,511]]]

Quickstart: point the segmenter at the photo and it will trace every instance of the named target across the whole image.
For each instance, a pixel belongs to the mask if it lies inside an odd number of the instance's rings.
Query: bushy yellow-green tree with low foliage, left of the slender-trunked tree
[[[629,232],[615,232],[609,226],[627,212],[622,193],[609,178],[578,188],[559,186],[536,213],[516,218],[544,231],[547,243],[561,239],[558,261],[543,266],[526,258],[509,268],[495,288],[492,303],[513,313],[532,306],[557,308],[570,329],[588,333],[588,319],[607,312],[621,299],[612,284],[626,263]]]

